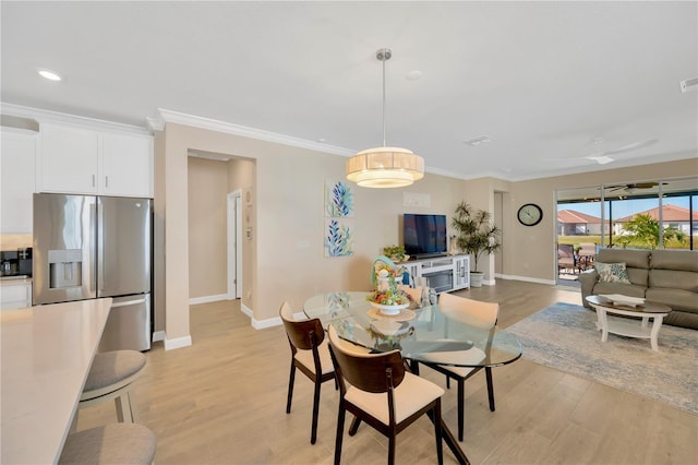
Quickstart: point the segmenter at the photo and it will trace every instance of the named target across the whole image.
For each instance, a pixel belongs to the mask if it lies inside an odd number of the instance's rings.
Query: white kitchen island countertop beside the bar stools
[[[58,462],[111,298],[0,312],[3,464]]]

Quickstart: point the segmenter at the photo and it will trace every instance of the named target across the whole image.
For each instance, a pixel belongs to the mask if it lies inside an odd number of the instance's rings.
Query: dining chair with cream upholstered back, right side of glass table
[[[480,326],[484,330],[494,327],[500,313],[500,305],[496,302],[482,302],[479,300],[468,299],[466,297],[455,296],[453,294],[443,293],[438,296],[438,308],[443,313],[455,320],[462,321],[470,325]],[[468,350],[458,350],[448,354],[442,354],[441,361],[444,356],[452,358],[454,361],[470,361],[478,363],[485,358],[484,351],[477,347]],[[448,365],[430,363],[420,361],[429,368],[446,375],[446,386],[450,388],[450,380],[458,383],[458,441],[464,439],[464,422],[466,412],[466,380],[476,374],[482,367],[454,367]],[[494,386],[492,383],[492,368],[485,367],[485,380],[488,383],[488,397],[490,401],[490,410],[494,412]]]

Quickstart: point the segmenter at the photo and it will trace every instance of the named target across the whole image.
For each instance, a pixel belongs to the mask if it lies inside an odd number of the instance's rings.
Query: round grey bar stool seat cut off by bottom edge
[[[69,434],[59,464],[153,463],[156,439],[142,425],[110,424]]]

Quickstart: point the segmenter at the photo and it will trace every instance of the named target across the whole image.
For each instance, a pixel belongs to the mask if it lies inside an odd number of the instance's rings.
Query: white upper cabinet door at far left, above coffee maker
[[[0,139],[0,233],[32,234],[37,135],[3,129]]]

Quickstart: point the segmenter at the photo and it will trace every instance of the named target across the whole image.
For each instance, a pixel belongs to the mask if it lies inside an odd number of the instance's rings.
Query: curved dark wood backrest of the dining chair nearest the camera
[[[362,354],[341,341],[332,324],[327,327],[327,334],[342,394],[346,392],[345,380],[361,391],[382,393],[397,388],[405,379],[405,365],[399,350]]]

